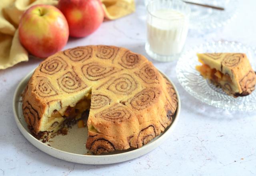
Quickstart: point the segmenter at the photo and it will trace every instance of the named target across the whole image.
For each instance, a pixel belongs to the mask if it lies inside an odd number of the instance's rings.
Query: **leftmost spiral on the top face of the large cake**
[[[41,76],[38,76],[37,78],[38,84],[36,86],[36,94],[42,97],[58,95],[58,93],[47,78]]]

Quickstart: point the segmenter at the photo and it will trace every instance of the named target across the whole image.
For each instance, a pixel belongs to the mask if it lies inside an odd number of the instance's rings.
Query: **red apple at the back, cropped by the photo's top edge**
[[[59,0],[58,8],[68,21],[72,37],[88,36],[104,20],[104,10],[99,0]]]

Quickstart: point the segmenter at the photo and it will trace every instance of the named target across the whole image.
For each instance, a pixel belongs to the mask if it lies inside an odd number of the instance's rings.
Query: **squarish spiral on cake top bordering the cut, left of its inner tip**
[[[76,92],[86,87],[75,72],[67,72],[62,77],[58,78],[58,85],[67,93]]]

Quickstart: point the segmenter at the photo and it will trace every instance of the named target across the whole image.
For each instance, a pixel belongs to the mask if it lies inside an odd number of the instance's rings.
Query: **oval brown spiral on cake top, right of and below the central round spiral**
[[[157,88],[146,88],[132,98],[130,104],[136,110],[143,110],[153,104],[159,97],[160,90]]]

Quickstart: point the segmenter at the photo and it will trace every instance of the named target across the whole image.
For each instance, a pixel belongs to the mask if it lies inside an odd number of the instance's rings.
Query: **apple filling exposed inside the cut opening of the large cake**
[[[54,110],[50,118],[48,118],[49,131],[56,132],[63,124],[80,120],[90,110],[91,93],[87,93],[84,98],[77,102],[75,106],[66,106],[62,109]],[[78,123],[78,127],[82,127],[82,121]]]

